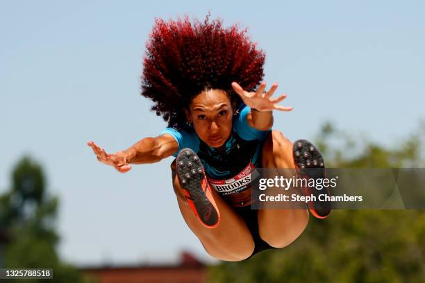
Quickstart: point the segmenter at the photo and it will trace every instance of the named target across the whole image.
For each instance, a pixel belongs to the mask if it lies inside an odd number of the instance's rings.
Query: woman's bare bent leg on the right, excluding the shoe
[[[263,146],[263,167],[295,168],[292,143],[281,132],[272,131]],[[277,173],[277,172],[276,172]],[[270,176],[274,178],[275,175]],[[258,211],[261,239],[274,248],[283,248],[297,239],[308,223],[307,209],[262,209]]]

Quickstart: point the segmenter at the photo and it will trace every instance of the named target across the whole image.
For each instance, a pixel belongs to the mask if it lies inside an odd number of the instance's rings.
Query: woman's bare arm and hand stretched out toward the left
[[[130,164],[154,163],[169,157],[178,150],[178,143],[171,135],[160,137],[146,137],[141,139],[125,151],[108,154],[103,148],[99,148],[93,141],[88,143],[97,160],[103,164],[114,166],[117,171],[126,173],[130,171]]]

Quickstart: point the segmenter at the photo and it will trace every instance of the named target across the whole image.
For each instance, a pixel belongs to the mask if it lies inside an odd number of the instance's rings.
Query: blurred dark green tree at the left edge
[[[40,164],[23,157],[12,171],[10,190],[0,196],[0,227],[9,240],[5,267],[52,268],[54,282],[92,282],[58,257],[59,237],[55,228],[58,198],[49,196],[46,187]]]

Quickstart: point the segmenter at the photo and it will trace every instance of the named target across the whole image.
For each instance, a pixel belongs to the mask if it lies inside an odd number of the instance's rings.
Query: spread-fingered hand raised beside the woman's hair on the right
[[[250,108],[256,109],[260,112],[272,110],[291,111],[292,107],[285,107],[277,104],[286,98],[286,94],[282,94],[278,98],[272,99],[272,95],[276,91],[277,86],[277,83],[274,83],[268,92],[264,92],[266,83],[261,83],[256,92],[247,92],[242,89],[238,83],[232,83],[232,87],[235,89],[235,92],[239,94],[245,105]]]

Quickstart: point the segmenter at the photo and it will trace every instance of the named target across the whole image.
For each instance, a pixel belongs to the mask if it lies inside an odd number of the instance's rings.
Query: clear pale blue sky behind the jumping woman
[[[1,1],[0,192],[31,154],[60,197],[60,254],[75,264],[206,257],[178,211],[169,163],[121,175],[86,142],[119,151],[165,123],[140,96],[155,17],[208,10],[267,53],[265,81],[287,93],[274,128],[314,137],[324,121],[386,145],[425,111],[423,1]]]

